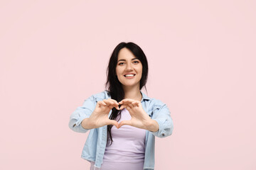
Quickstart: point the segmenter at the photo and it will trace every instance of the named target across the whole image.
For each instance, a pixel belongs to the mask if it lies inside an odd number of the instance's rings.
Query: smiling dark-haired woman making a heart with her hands
[[[91,169],[154,169],[154,140],[171,135],[169,108],[141,89],[148,64],[133,42],[115,47],[107,68],[105,91],[87,98],[70,116],[69,127],[87,132],[82,158]]]

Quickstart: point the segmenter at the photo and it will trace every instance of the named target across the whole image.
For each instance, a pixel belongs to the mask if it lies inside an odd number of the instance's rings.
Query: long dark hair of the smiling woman
[[[136,56],[139,61],[142,62],[142,79],[139,81],[139,89],[142,89],[142,87],[146,89],[146,80],[149,72],[146,55],[142,49],[138,45],[134,44],[134,42],[120,42],[119,45],[114,48],[114,51],[110,57],[110,62],[107,67],[107,82],[105,84],[105,87],[110,93],[111,98],[117,102],[124,99],[124,89],[122,89],[122,84],[117,79],[116,75],[118,53],[124,47],[129,49],[134,54],[134,56]],[[112,108],[110,119],[118,121],[120,119],[120,113],[121,111],[118,111],[116,108]],[[110,145],[112,145],[113,142],[111,135],[112,126],[113,125],[107,125],[107,141],[111,140]]]

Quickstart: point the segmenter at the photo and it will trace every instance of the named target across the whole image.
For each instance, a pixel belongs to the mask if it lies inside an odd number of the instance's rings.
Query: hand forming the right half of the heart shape
[[[129,114],[131,115],[131,120],[122,120],[121,123],[119,123],[119,128],[122,127],[122,125],[131,125],[151,132],[159,130],[159,124],[156,120],[152,120],[144,111],[140,101],[125,98],[120,101],[119,104],[122,105],[119,110],[127,108],[127,111],[129,111]]]

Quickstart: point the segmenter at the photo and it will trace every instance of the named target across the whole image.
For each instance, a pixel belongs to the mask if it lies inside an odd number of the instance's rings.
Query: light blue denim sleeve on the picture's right
[[[152,119],[156,120],[159,124],[159,130],[151,132],[153,135],[156,137],[167,137],[172,134],[174,130],[174,123],[171,119],[171,112],[166,104],[156,107],[153,112]]]

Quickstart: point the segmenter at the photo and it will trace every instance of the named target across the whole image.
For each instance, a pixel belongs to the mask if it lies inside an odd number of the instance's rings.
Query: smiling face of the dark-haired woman
[[[123,87],[139,86],[142,79],[142,62],[124,47],[118,53],[116,73]]]

